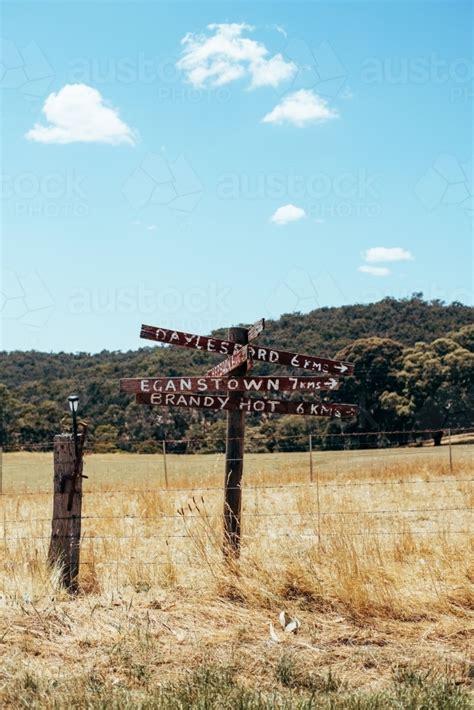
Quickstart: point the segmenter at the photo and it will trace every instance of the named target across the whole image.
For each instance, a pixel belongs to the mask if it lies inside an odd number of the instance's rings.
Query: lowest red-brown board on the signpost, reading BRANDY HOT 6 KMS
[[[137,404],[158,407],[197,407],[199,409],[241,410],[243,412],[269,414],[302,414],[314,417],[354,417],[358,412],[355,404],[326,404],[313,402],[286,402],[281,399],[234,398],[230,395],[170,394],[164,392],[140,392]]]

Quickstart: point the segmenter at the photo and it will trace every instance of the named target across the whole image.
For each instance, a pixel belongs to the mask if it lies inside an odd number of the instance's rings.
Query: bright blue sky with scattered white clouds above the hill
[[[1,347],[471,303],[471,12],[5,3]]]

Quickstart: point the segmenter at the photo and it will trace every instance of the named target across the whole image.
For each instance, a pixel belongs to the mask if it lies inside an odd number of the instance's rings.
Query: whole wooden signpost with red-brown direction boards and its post
[[[140,337],[224,355],[226,359],[202,377],[134,377],[120,380],[122,392],[135,394],[138,404],[158,407],[192,407],[227,412],[224,500],[224,552],[240,552],[242,473],[245,414],[300,414],[303,416],[355,417],[358,407],[312,400],[280,399],[280,392],[317,394],[336,390],[340,376],[351,375],[354,365],[340,360],[301,355],[253,344],[265,327],[263,319],[249,328],[230,328],[227,340],[179,330],[142,325]],[[254,362],[309,370],[311,375],[249,377]],[[249,396],[252,393],[266,398]]]

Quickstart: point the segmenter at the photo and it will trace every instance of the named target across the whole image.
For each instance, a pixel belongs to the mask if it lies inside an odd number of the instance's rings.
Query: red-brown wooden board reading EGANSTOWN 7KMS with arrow
[[[334,377],[130,377],[122,392],[322,392],[338,389]]]

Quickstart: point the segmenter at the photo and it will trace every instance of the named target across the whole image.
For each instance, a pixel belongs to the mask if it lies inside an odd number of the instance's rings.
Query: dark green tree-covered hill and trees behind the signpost
[[[461,303],[427,302],[422,294],[414,294],[410,299],[318,308],[268,321],[260,336],[264,345],[355,362],[355,376],[329,398],[359,404],[361,416],[341,428],[340,421],[252,415],[252,448],[298,448],[298,436],[309,431],[321,436],[321,445],[331,432],[341,431],[372,431],[373,442],[386,444],[390,437],[376,432],[473,426],[473,310]],[[159,314],[151,324],[163,325]],[[89,422],[97,450],[153,452],[165,438],[195,439],[201,450],[222,448],[222,414],[137,406],[132,396],[119,392],[121,377],[202,374],[215,363],[212,355],[161,346],[94,355],[2,352],[0,442],[13,447],[51,440],[65,425],[68,394],[77,392],[80,414]],[[260,363],[254,373],[277,370]]]

